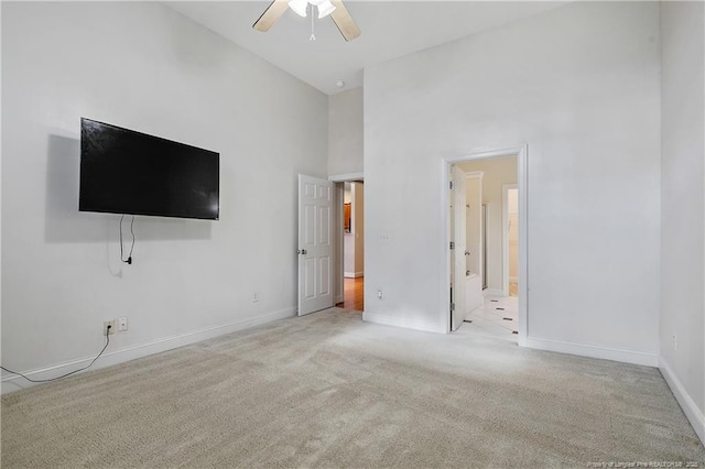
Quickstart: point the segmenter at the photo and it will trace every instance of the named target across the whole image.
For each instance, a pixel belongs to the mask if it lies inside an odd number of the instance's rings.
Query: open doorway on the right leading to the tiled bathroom
[[[448,161],[448,181],[453,181],[455,168],[465,173],[466,194],[466,285],[473,274],[479,276],[481,303],[479,306],[467,302],[458,305],[459,296],[451,292],[451,309],[465,308],[459,334],[480,332],[501,336],[508,340],[525,345],[527,318],[527,258],[525,258],[525,148],[487,152]],[[457,177],[457,176],[455,176]],[[478,184],[479,183],[479,184]],[[449,195],[447,206],[453,205]],[[523,210],[522,211],[522,207]],[[449,240],[457,237],[454,221],[457,210],[448,210]],[[453,255],[453,244],[448,254],[448,276],[457,280],[458,273],[451,272],[458,257]],[[511,281],[511,282],[510,282]],[[455,282],[455,288],[460,287]],[[466,288],[466,292],[469,290]],[[453,299],[456,299],[454,305]],[[449,315],[448,330],[455,330],[453,314]]]

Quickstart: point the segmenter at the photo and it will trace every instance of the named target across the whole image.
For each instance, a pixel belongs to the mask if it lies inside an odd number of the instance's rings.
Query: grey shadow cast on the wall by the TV
[[[80,170],[80,141],[61,135],[48,135],[46,156],[46,212],[44,240],[62,242],[107,242],[117,238],[108,233],[117,214],[78,211],[78,176]],[[129,218],[128,218],[129,223]],[[212,238],[212,223],[207,220],[137,216],[134,233],[139,240],[207,240]],[[129,225],[126,225],[129,229]]]

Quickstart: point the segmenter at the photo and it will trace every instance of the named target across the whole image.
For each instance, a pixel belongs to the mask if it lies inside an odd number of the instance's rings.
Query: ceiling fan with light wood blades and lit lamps
[[[352,21],[352,17],[350,17],[341,0],[274,0],[252,24],[252,28],[257,31],[269,31],[288,8],[291,8],[301,17],[306,17],[310,3],[318,9],[318,19],[328,14],[333,18],[333,22],[338,26],[338,31],[340,31],[346,41],[352,41],[360,35],[360,29]],[[313,14],[313,8],[311,11]]]

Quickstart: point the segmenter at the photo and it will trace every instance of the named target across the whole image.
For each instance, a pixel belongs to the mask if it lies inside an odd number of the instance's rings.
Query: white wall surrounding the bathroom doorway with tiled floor
[[[528,343],[655,364],[659,100],[653,2],[571,3],[366,69],[365,318],[444,331],[444,159],[525,143]]]

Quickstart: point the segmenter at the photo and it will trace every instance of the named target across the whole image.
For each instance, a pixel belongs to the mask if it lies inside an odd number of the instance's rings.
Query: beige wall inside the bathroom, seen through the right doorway
[[[482,204],[487,204],[487,288],[503,291],[502,185],[517,184],[517,156],[458,163],[465,172],[481,171]]]

